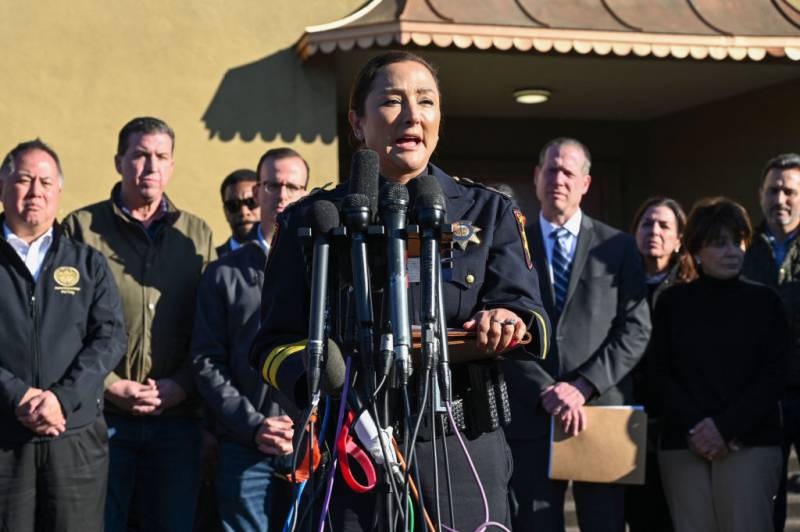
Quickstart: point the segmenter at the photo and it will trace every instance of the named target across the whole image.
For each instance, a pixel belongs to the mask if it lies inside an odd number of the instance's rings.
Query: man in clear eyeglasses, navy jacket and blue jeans
[[[251,242],[212,263],[203,275],[192,340],[197,387],[220,440],[219,514],[226,530],[237,531],[268,529],[273,457],[292,451],[292,421],[271,399],[248,353],[259,325],[269,253],[265,235],[272,233],[275,216],[287,201],[305,195],[308,182],[305,161],[287,148],[268,151],[257,170],[261,181],[254,196],[261,224]]]

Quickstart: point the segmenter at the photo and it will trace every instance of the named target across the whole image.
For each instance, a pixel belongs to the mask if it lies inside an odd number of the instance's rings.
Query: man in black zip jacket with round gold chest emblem
[[[126,337],[105,258],[55,223],[62,184],[40,140],[0,166],[0,530],[103,529],[103,380]]]

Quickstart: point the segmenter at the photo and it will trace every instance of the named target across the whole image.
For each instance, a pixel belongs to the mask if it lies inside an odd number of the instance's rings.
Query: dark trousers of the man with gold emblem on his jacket
[[[0,444],[0,531],[101,532],[105,421],[47,441]]]

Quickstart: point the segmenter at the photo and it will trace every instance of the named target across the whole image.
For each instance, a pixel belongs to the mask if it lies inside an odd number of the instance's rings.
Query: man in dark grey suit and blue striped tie
[[[551,419],[578,434],[585,404],[630,404],[627,375],[650,334],[633,238],[580,209],[590,165],[582,143],[559,138],[544,147],[534,174],[541,211],[527,234],[553,342],[544,360],[506,362],[513,411],[531,412],[506,428],[515,530],[564,530],[567,483],[548,478]],[[573,492],[583,532],[625,530],[622,486],[575,482]]]

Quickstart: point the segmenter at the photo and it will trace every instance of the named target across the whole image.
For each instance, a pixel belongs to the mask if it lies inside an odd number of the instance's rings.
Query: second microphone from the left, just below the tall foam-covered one
[[[372,292],[370,291],[367,258],[367,228],[372,219],[370,200],[364,194],[348,194],[342,202],[342,214],[350,237],[350,264],[353,270],[353,294],[356,314],[357,343],[364,368],[367,393],[375,391],[373,363]]]

